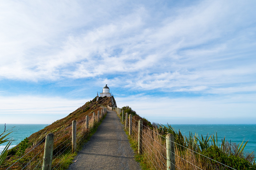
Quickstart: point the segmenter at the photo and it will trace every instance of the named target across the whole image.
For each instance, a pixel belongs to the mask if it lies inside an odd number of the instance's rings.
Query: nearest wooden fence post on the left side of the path
[[[48,133],[45,137],[44,160],[43,160],[42,170],[51,170],[52,168],[53,139],[54,139],[53,133]]]

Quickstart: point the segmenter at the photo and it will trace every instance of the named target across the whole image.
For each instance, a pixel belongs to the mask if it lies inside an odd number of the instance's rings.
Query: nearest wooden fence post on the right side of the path
[[[166,135],[166,157],[167,170],[175,170],[174,137],[170,133]]]

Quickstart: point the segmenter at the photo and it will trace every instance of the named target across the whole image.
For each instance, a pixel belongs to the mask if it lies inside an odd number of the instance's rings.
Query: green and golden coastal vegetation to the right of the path
[[[127,108],[127,107],[123,107]],[[129,107],[132,110],[132,108]],[[138,153],[138,121],[143,120],[143,153]],[[203,135],[189,133],[182,135],[171,125],[151,123],[147,119],[134,115],[132,118],[132,135],[129,140],[135,151],[135,159],[140,162],[142,169],[166,169],[165,136],[171,133],[175,142],[175,166],[177,169],[256,169],[255,154],[247,153],[244,147],[247,142],[236,144],[228,142],[225,137],[218,140],[215,134]],[[126,130],[126,133],[128,131]]]

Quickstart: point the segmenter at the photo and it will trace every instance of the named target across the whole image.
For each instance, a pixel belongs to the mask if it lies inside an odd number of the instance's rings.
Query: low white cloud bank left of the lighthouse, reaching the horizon
[[[44,96],[0,96],[0,123],[51,124],[83,106],[89,99]]]

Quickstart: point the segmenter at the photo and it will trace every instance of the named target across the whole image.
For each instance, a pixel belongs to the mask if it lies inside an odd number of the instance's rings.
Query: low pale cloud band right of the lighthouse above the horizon
[[[200,121],[204,119],[207,123],[223,123],[223,120],[226,121],[225,123],[248,123],[244,121],[252,118],[255,120],[256,118],[254,113],[256,109],[255,97],[255,94],[198,98],[134,95],[116,97],[115,99],[117,107],[128,105],[140,116],[148,118],[149,121],[156,122],[155,120],[158,120],[157,123],[184,124],[188,123],[191,117],[193,119],[198,118]],[[243,122],[239,121],[241,117]],[[214,120],[211,122],[212,118]],[[230,118],[229,122],[227,121],[228,118]],[[173,122],[173,119],[178,120],[178,122]],[[191,120],[188,124],[194,123],[198,122]]]

